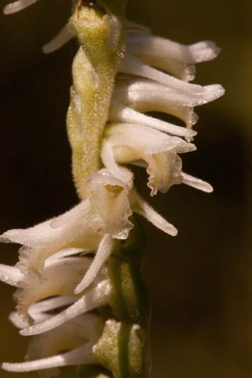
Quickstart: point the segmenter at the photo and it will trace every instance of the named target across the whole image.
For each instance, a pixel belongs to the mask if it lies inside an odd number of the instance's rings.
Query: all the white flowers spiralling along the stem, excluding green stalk
[[[18,12],[35,2],[19,0],[4,12]],[[17,311],[10,320],[22,335],[41,334],[30,344],[29,361],[4,363],[6,370],[50,368],[42,374],[54,376],[58,366],[100,363],[93,348],[104,324],[97,313],[87,311],[110,304],[113,285],[106,261],[114,239],[127,239],[133,212],[176,235],[176,228],[137,193],[134,174],[125,164],[147,169],[151,196],[179,183],[212,191],[208,183],[182,172],[178,154],[196,149],[191,143],[197,134],[192,130],[197,121],[193,107],[224,93],[220,85],[189,83],[194,64],[216,57],[219,49],[209,41],[181,45],[129,21],[126,27],[126,48],[99,150],[102,168],[85,178],[89,194],[63,215],[1,236],[3,242],[23,245],[15,267],[0,266],[0,279],[18,287]],[[72,36],[68,25],[45,50]],[[149,111],[176,116],[185,127],[146,115]],[[57,354],[60,350],[70,351]]]

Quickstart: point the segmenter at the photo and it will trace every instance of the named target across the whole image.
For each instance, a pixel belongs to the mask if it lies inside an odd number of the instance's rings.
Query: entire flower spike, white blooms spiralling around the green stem
[[[35,2],[19,0],[4,12]],[[196,150],[194,106],[224,93],[220,85],[190,83],[194,65],[220,50],[210,41],[185,46],[153,36],[126,20],[124,7],[120,0],[74,1],[67,26],[44,46],[50,52],[73,36],[80,43],[67,116],[80,203],[1,236],[23,245],[15,267],[0,265],[0,279],[17,287],[10,320],[22,335],[36,335],[29,361],[4,363],[6,370],[50,377],[60,366],[90,365],[90,376],[145,377],[149,304],[135,214],[172,236],[177,230],[138,193],[136,169],[147,170],[151,196],[180,183],[212,191],[182,171],[180,154]],[[151,111],[171,114],[184,127]]]

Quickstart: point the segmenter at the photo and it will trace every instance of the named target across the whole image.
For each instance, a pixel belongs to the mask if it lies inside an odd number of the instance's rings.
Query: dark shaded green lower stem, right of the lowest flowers
[[[117,240],[107,262],[113,293],[110,308],[103,309],[103,334],[93,348],[113,378],[144,378],[150,306],[140,269],[145,237],[140,224],[125,241]]]

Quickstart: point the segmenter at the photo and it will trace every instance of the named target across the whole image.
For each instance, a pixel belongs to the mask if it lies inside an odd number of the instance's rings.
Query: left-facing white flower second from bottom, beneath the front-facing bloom
[[[90,269],[91,258],[86,257],[85,253],[87,251],[69,248],[48,258],[44,268],[47,280],[43,283],[37,278],[25,280],[17,267],[0,265],[0,278],[19,287],[15,293],[18,311],[11,313],[10,320],[18,328],[24,329],[21,333],[31,334],[31,329],[33,332],[35,330],[35,334],[40,333],[38,331],[44,327],[44,323],[47,329],[52,329],[109,302],[111,285],[104,269],[99,270],[92,279],[87,292],[83,295],[74,293],[75,287]],[[54,317],[46,312],[52,309],[58,311],[64,306],[67,308]]]

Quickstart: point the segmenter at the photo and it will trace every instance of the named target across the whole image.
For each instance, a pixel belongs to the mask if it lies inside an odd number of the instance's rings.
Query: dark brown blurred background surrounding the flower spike
[[[65,131],[77,44],[72,40],[50,55],[41,51],[70,9],[70,1],[43,0],[22,13],[0,15],[1,233],[78,202]],[[128,17],[183,44],[215,41],[222,52],[197,66],[195,82],[226,89],[224,97],[195,109],[198,150],[182,155],[184,171],[210,182],[214,192],[181,184],[150,198],[142,175],[145,198],[179,231],[171,237],[143,221],[151,378],[251,377],[252,2],[129,0]],[[1,263],[15,264],[17,250],[1,245]],[[29,338],[7,320],[13,288],[1,284],[0,290],[0,360],[22,361]],[[37,375],[0,372],[1,378],[14,376]]]

